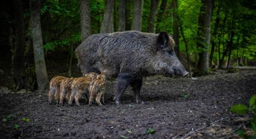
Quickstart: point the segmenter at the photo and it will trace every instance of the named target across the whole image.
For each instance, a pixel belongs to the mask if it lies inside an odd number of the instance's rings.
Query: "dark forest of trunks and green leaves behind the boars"
[[[166,31],[197,75],[256,66],[255,0],[10,0],[0,10],[0,83],[14,90],[43,90],[52,76],[79,76],[74,50],[81,41],[125,30]]]

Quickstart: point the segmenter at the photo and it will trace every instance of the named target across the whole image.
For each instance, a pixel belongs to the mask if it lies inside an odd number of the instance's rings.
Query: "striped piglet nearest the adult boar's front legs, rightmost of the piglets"
[[[106,82],[106,76],[104,73],[97,76],[96,79],[94,79],[89,86],[89,105],[92,104],[94,96],[96,96],[96,103],[98,105],[102,105],[100,102],[100,99],[102,99],[103,104],[104,102],[104,93],[105,93],[105,82]]]

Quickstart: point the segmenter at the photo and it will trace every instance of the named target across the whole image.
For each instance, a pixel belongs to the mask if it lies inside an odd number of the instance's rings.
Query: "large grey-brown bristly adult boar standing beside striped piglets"
[[[188,74],[173,51],[174,44],[164,32],[124,31],[91,35],[75,52],[83,74],[101,72],[107,78],[116,77],[114,101],[120,105],[122,93],[129,85],[134,90],[135,101],[144,103],[140,96],[143,76]]]

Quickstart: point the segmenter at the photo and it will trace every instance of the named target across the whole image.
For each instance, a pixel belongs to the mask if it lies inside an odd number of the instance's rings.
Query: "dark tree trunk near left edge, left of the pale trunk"
[[[23,19],[23,5],[21,0],[14,2],[15,15],[15,44],[12,53],[12,77],[15,83],[15,90],[24,88],[24,19]]]

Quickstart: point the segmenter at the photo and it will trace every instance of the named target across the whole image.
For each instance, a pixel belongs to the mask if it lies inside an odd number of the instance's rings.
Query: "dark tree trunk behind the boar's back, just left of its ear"
[[[147,27],[148,33],[154,33],[154,29],[155,29],[154,22],[155,22],[155,18],[156,18],[158,2],[159,2],[159,0],[151,0],[150,16],[148,18],[148,27]]]

